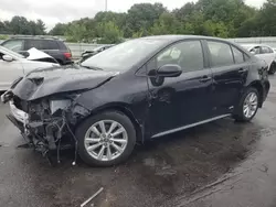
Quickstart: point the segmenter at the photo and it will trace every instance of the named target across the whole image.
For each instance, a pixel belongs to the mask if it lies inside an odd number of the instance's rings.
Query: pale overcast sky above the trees
[[[57,22],[94,17],[105,10],[105,0],[0,0],[0,20],[10,20],[13,15],[23,15],[29,20],[41,19],[47,29]],[[108,10],[125,12],[134,3],[161,2],[168,9],[180,8],[197,0],[108,0]],[[250,6],[261,7],[265,0],[245,0]]]

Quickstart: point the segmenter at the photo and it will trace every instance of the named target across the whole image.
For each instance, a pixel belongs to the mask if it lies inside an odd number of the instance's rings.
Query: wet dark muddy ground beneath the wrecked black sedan
[[[266,199],[255,204],[276,206],[276,76],[270,84],[251,123],[223,119],[147,142],[125,164],[109,168],[81,161],[72,166],[71,151],[52,167],[40,154],[18,148],[24,142],[1,105],[0,206],[79,206],[100,187],[94,206],[250,206],[246,200],[254,204],[262,194]]]

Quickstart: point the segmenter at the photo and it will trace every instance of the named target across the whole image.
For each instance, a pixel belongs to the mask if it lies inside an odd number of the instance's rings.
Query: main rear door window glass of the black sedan
[[[208,46],[213,66],[217,67],[234,64],[233,54],[229,44],[210,41],[208,42]]]

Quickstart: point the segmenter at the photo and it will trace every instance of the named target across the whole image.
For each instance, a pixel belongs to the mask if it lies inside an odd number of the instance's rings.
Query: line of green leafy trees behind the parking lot
[[[134,4],[127,12],[98,12],[70,23],[57,23],[49,34],[64,35],[72,42],[118,43],[124,39],[159,34],[197,34],[219,37],[276,35],[276,0],[261,9],[243,0],[199,0],[169,11],[161,3]],[[36,26],[35,26],[36,24]],[[14,17],[0,22],[12,33],[45,33],[44,23]]]

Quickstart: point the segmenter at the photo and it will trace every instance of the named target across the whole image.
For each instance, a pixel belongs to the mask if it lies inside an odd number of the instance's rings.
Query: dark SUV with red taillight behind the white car
[[[14,36],[1,43],[2,46],[26,56],[26,51],[35,47],[54,57],[61,65],[72,63],[70,48],[55,37]]]

